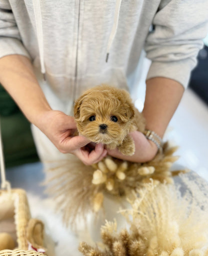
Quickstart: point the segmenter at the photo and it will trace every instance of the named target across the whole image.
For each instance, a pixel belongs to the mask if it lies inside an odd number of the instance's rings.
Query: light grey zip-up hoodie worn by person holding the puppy
[[[88,87],[130,87],[142,49],[147,78],[186,87],[207,10],[207,0],[0,0],[0,57],[28,56],[49,104],[65,113]]]

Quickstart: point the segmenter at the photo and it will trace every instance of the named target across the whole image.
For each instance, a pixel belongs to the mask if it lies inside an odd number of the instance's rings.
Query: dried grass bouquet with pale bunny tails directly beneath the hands
[[[66,225],[75,226],[75,220],[83,220],[88,212],[102,208],[103,193],[128,196],[152,179],[158,183],[173,183],[173,176],[185,172],[170,171],[178,158],[173,156],[176,149],[165,143],[152,161],[143,164],[108,156],[95,165],[85,166],[69,155],[67,161],[50,163],[48,171],[52,171],[53,177],[47,182],[47,193],[57,201],[57,209],[62,211]]]

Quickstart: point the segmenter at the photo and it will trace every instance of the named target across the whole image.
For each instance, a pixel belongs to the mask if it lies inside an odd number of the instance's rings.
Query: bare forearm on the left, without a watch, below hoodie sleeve
[[[51,110],[28,58],[21,55],[0,58],[0,83],[31,123],[37,125],[39,115]]]

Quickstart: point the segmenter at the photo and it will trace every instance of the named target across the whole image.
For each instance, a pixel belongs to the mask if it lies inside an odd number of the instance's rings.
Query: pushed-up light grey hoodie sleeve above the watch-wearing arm
[[[207,34],[207,0],[162,0],[145,41],[147,79],[166,77],[187,87]]]

